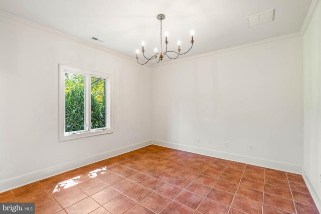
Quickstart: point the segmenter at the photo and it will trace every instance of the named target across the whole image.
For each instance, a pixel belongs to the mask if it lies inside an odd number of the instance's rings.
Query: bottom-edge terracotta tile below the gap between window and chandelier
[[[118,197],[106,203],[104,207],[111,213],[118,214],[124,213],[136,204],[137,203],[129,197],[126,197],[125,195],[121,194]]]

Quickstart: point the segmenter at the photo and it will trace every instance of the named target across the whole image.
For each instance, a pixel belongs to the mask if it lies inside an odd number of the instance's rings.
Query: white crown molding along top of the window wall
[[[90,46],[90,47],[92,47],[92,48],[96,48],[96,49],[99,49],[99,50],[101,50],[101,51],[107,52],[107,53],[109,53],[109,54],[112,54],[112,55],[115,55],[115,56],[118,56],[118,57],[121,57],[121,58],[130,60],[130,61],[132,61],[132,62],[135,62],[135,60],[134,60],[132,57],[128,57],[127,55],[124,55],[124,54],[121,54],[121,53],[112,51],[112,50],[110,50],[110,49],[108,49],[108,48],[104,48],[104,47],[101,47],[101,46],[99,46],[99,45],[92,44],[92,43],[87,42],[87,41],[85,41],[85,40],[82,40],[82,39],[79,39],[79,38],[76,38],[76,37],[73,37],[73,36],[64,34],[64,33],[62,33],[62,32],[53,30],[53,29],[51,29],[51,28],[47,28],[47,27],[45,27],[45,26],[42,26],[42,25],[39,25],[39,24],[37,24],[37,23],[34,23],[34,22],[31,22],[31,21],[25,20],[25,19],[20,18],[20,17],[17,17],[17,16],[14,16],[14,15],[12,15],[12,14],[8,14],[8,13],[6,13],[6,12],[0,11],[0,16],[5,17],[5,18],[9,18],[9,19],[11,19],[11,20],[15,20],[15,21],[18,21],[18,22],[21,22],[21,23],[24,23],[24,24],[27,24],[27,25],[30,25],[30,26],[33,26],[33,27],[36,27],[36,28],[38,28],[38,29],[44,30],[44,31],[49,32],[49,33],[51,33],[51,34],[55,34],[55,35],[57,35],[57,36],[61,36],[61,37],[67,38],[67,39],[73,40],[73,41],[75,41],[75,42],[78,42],[78,43],[80,43],[80,44],[87,45],[87,46]]]

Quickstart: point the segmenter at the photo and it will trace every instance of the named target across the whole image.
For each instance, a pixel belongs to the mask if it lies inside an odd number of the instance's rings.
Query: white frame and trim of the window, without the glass
[[[85,130],[65,131],[65,73],[85,76]],[[91,129],[91,77],[106,80],[106,127]],[[59,140],[71,140],[100,134],[113,133],[113,80],[112,74],[105,74],[59,64]]]

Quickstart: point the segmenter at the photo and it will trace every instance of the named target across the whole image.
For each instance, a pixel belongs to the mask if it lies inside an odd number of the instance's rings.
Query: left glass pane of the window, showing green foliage
[[[65,131],[84,130],[85,76],[65,73]]]

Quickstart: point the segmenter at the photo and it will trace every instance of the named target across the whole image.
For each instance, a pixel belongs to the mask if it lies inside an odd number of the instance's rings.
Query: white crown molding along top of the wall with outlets
[[[246,47],[250,47],[250,46],[256,46],[256,45],[260,45],[260,44],[264,44],[264,43],[269,43],[269,42],[278,41],[278,40],[285,40],[285,39],[294,38],[294,37],[300,37],[300,36],[302,36],[301,32],[296,32],[296,33],[287,34],[287,35],[283,35],[283,36],[279,36],[279,37],[273,37],[273,38],[269,38],[269,39],[265,39],[265,40],[260,40],[260,41],[256,41],[256,42],[252,42],[252,43],[247,43],[247,44],[244,44],[244,45],[234,46],[234,47],[231,47],[231,48],[212,51],[212,52],[208,52],[208,53],[205,53],[205,54],[199,54],[199,55],[196,55],[196,56],[185,57],[185,58],[181,58],[181,59],[178,59],[178,60],[175,60],[175,61],[165,62],[165,63],[162,63],[161,65],[159,65],[159,64],[152,65],[151,67],[159,67],[159,66],[168,65],[168,64],[172,64],[172,63],[176,63],[176,62],[180,62],[180,61],[191,60],[191,59],[195,59],[195,58],[199,58],[199,57],[215,55],[215,54],[219,54],[219,53],[222,53],[222,52],[233,51],[233,50],[240,49],[240,48],[246,48]]]

